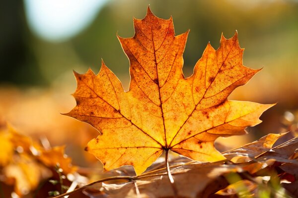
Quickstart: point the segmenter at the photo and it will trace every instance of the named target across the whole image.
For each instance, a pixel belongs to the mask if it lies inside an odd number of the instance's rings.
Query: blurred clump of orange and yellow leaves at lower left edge
[[[71,164],[72,159],[65,155],[64,146],[45,149],[10,125],[0,131],[0,148],[1,182],[13,186],[14,193],[19,197],[33,192],[40,184],[39,188],[43,188],[43,181],[53,176],[57,164],[65,175],[76,170]],[[7,194],[7,189],[3,191]]]

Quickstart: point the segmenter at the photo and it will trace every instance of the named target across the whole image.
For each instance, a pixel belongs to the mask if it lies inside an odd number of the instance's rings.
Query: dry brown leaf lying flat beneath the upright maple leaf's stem
[[[175,184],[179,187],[178,197],[208,198],[223,189],[228,183],[221,175],[240,170],[234,165],[191,164],[171,169]],[[105,184],[100,189],[109,198],[170,198],[174,197],[166,170],[155,172],[163,176],[149,176],[123,184]]]

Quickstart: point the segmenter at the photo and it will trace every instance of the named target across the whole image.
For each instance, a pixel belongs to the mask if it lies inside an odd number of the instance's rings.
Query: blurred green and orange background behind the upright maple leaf
[[[287,131],[283,120],[292,122],[298,108],[297,0],[1,0],[0,122],[65,144],[74,164],[90,165],[83,148],[98,132],[60,114],[75,106],[72,70],[97,73],[103,58],[128,90],[129,61],[116,34],[132,37],[133,17],[144,18],[149,4],[156,16],[173,17],[176,35],[190,29],[186,77],[209,41],[217,49],[221,34],[230,38],[235,30],[244,65],[263,67],[230,99],[278,103],[237,144]]]

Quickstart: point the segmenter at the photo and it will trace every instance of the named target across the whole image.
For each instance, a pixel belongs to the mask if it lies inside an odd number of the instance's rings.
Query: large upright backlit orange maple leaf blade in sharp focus
[[[259,70],[242,65],[237,33],[222,36],[215,50],[207,45],[191,77],[184,78],[183,58],[188,32],[175,36],[172,18],[157,18],[148,8],[134,19],[135,36],[118,36],[130,60],[130,90],[102,62],[95,75],[74,72],[76,106],[66,115],[100,131],[86,150],[107,170],[133,165],[137,175],[163,150],[198,161],[225,159],[215,149],[220,136],[244,134],[247,126],[272,104],[227,100]]]

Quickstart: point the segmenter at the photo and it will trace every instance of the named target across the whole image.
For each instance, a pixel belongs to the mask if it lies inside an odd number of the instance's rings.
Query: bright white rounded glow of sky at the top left
[[[49,41],[65,41],[87,27],[107,0],[24,0],[30,29]]]

